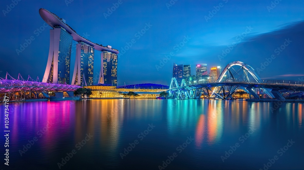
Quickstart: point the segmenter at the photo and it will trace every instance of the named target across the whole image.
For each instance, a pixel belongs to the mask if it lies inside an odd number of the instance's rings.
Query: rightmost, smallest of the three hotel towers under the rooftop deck
[[[107,46],[111,48],[111,46]],[[109,51],[102,51],[102,66],[100,69],[99,83],[117,86],[117,54]]]

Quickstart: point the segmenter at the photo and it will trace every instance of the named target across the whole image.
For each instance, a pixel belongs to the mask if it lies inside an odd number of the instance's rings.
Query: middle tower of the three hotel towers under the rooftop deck
[[[72,84],[92,85],[93,84],[93,64],[94,47],[85,42],[76,45],[76,59]]]

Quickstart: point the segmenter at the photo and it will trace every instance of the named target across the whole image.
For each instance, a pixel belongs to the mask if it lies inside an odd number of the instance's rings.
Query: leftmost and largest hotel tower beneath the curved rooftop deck
[[[50,29],[50,50],[42,82],[70,84],[72,41],[64,28]]]

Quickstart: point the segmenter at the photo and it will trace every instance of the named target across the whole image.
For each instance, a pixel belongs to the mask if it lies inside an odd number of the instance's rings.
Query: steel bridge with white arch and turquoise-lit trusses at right
[[[224,79],[224,77],[227,77]],[[272,99],[286,100],[282,95],[285,92],[304,91],[304,82],[292,80],[261,80],[254,69],[240,61],[229,63],[220,74],[218,80],[212,83],[186,85],[182,80],[179,86],[177,80],[172,78],[170,88],[166,92],[169,99],[199,99],[201,95],[207,98],[233,99],[236,90],[246,91],[250,98],[260,99],[259,94],[266,94]],[[288,98],[296,97],[291,94]]]

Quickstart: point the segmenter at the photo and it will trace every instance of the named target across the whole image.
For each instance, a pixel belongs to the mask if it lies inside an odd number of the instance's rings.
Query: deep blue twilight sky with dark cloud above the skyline
[[[24,78],[39,76],[42,80],[51,29],[39,15],[44,8],[64,18],[81,36],[120,51],[119,85],[168,85],[173,63],[191,64],[195,74],[195,64],[206,63],[210,71],[212,66],[224,68],[232,61],[249,64],[262,79],[304,81],[303,0],[175,1],[170,5],[170,0],[16,0],[18,4],[9,10],[12,0],[2,0],[0,77],[9,72],[13,77],[21,73]],[[117,2],[121,3],[118,8],[113,7]],[[111,7],[112,13],[108,12]],[[17,53],[31,36],[34,40]],[[124,52],[127,44],[132,46]],[[267,64],[271,55],[275,58]],[[100,61],[100,52],[95,51],[94,83]],[[265,62],[267,66],[261,66]]]

